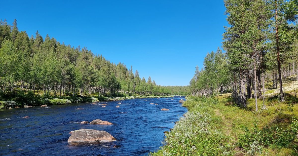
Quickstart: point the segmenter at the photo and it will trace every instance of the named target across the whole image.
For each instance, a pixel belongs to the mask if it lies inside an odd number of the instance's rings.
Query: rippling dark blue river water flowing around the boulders
[[[174,122],[187,111],[178,102],[183,98],[175,96],[97,103],[108,104],[105,108],[82,103],[49,108],[1,109],[0,155],[148,155],[162,146],[163,132],[173,128]],[[117,105],[120,107],[116,108]],[[161,111],[162,108],[170,110]],[[30,118],[22,118],[24,116]],[[114,124],[79,123],[94,119]],[[81,128],[107,131],[117,141],[67,143],[69,132]]]

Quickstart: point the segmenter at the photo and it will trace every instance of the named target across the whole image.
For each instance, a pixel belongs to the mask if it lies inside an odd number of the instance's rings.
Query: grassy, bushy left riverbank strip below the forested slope
[[[1,95],[0,109],[3,108],[18,108],[24,106],[41,106],[41,105],[61,105],[83,102],[99,102],[99,101],[117,101],[135,98],[171,98],[173,96],[121,96],[121,97],[106,97],[95,94],[90,95],[75,95],[72,96],[54,96],[51,94],[34,94],[33,92],[5,92]]]

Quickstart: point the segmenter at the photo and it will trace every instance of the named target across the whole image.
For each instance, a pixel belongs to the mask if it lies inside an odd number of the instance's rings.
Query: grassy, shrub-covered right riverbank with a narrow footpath
[[[265,101],[267,109],[255,112],[254,99],[242,109],[230,94],[187,97],[185,117],[165,134],[164,146],[150,155],[297,155],[297,101],[290,94],[284,102],[271,96]]]

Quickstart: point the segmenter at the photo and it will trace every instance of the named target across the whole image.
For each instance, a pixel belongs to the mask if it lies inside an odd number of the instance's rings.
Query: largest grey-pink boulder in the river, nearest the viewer
[[[69,143],[115,141],[116,139],[108,132],[94,129],[79,129],[72,131],[68,138]]]

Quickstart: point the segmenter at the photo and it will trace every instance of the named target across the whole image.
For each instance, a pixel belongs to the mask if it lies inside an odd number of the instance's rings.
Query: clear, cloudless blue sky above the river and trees
[[[159,85],[188,85],[207,52],[221,47],[223,0],[1,1],[20,31],[87,47]]]

